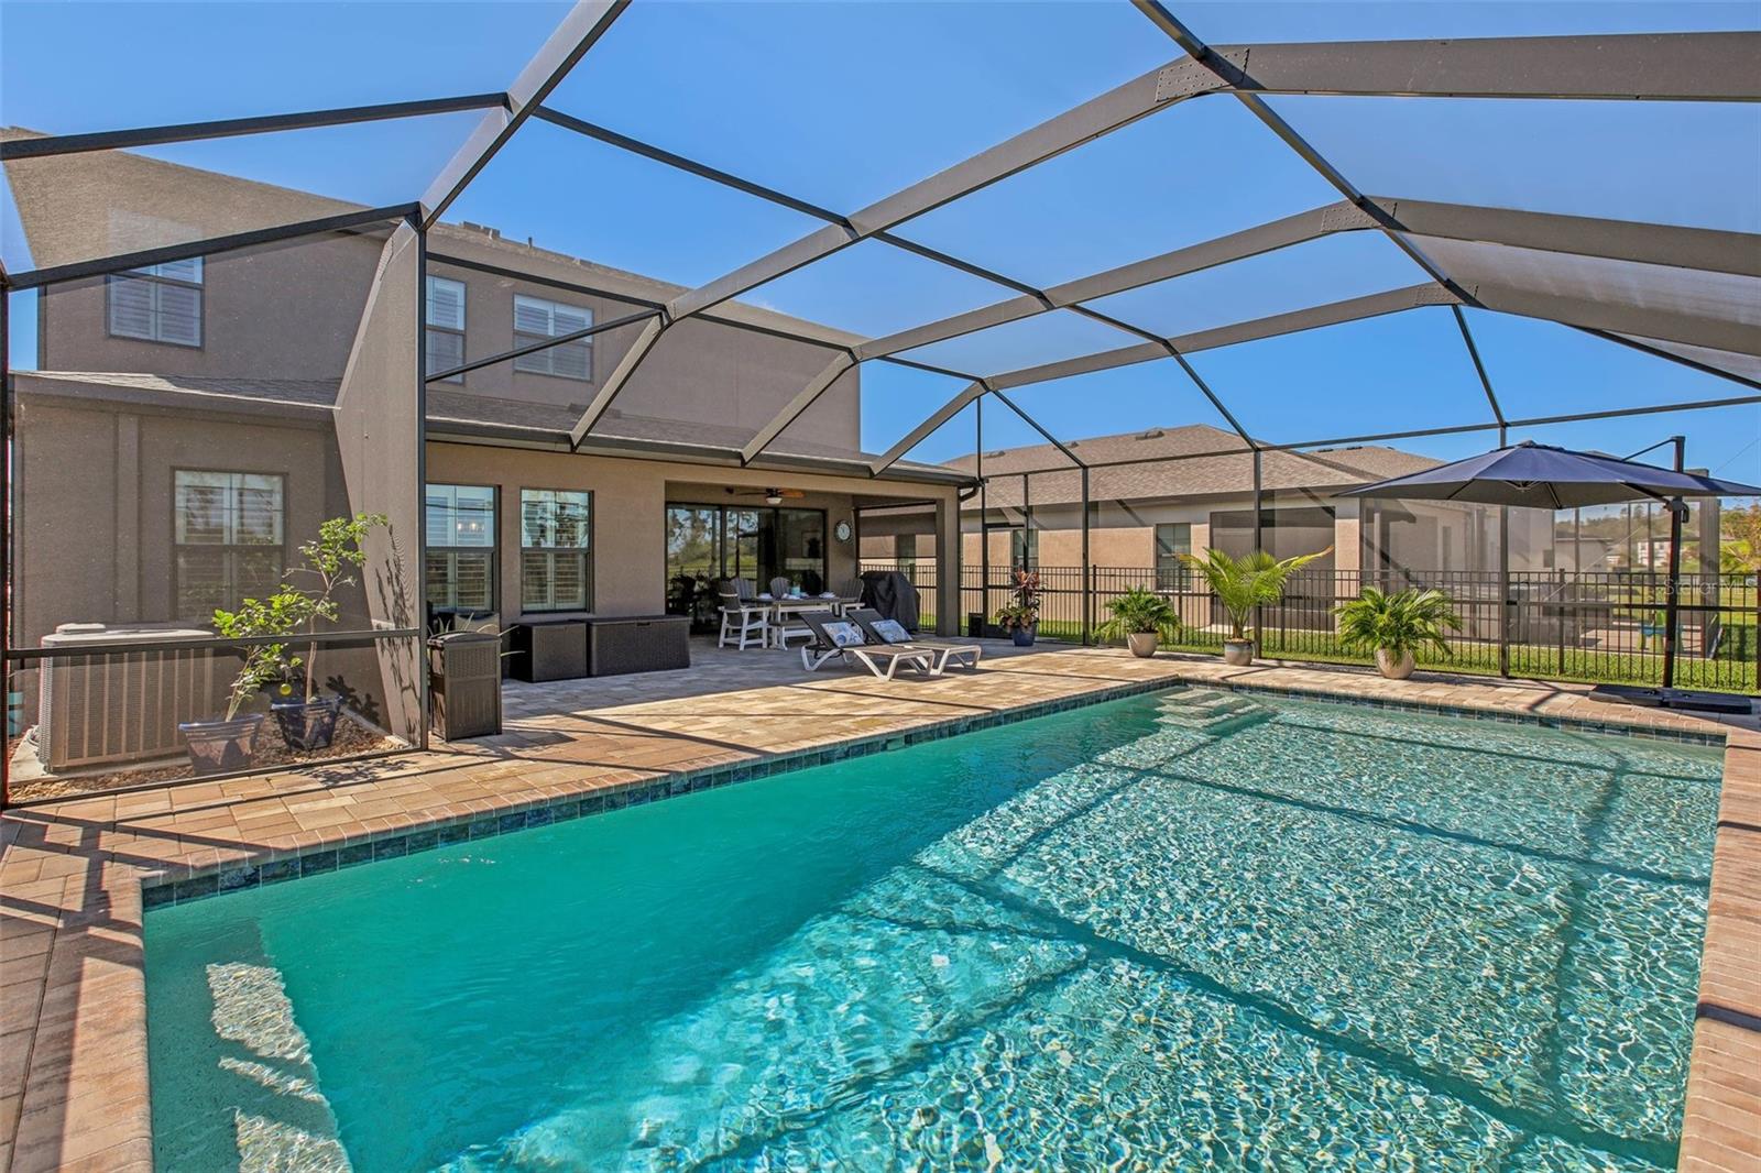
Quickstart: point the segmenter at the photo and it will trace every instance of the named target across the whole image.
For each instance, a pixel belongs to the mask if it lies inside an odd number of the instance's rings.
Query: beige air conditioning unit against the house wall
[[[213,639],[169,625],[62,623],[44,648],[77,652],[114,643]],[[183,750],[180,720],[213,717],[225,705],[231,660],[211,648],[107,652],[42,660],[37,757],[51,773],[167,757]]]

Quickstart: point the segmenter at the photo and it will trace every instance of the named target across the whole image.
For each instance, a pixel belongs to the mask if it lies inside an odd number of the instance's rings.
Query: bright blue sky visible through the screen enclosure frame
[[[0,0],[0,123],[69,134],[127,125],[498,90],[560,4],[19,4]],[[1761,28],[1761,4],[1190,4],[1212,42]],[[77,53],[81,67],[69,69]],[[637,2],[551,104],[824,206],[852,211],[1178,56],[1124,2]],[[141,69],[141,62],[160,67]],[[169,65],[181,62],[181,65]],[[1747,104],[1277,99],[1361,188],[1615,218],[1761,231],[1761,111]],[[150,153],[361,203],[419,192],[468,114],[227,139]],[[921,217],[900,231],[1030,284],[1053,284],[1289,215],[1335,194],[1240,104],[1203,99]],[[701,284],[817,222],[553,127],[534,125],[453,213],[507,236]],[[4,225],[0,225],[4,227]],[[16,234],[9,268],[26,268]],[[1421,275],[1377,236],[1317,241],[1122,294],[1104,306],[1197,329]],[[799,269],[752,301],[882,335],[1011,296],[880,243]],[[14,301],[30,363],[30,299]],[[1567,328],[1472,314],[1511,416],[1743,393]],[[921,358],[993,373],[1131,338],[1074,315],[986,331]],[[1205,352],[1194,365],[1273,440],[1483,419],[1444,310]],[[865,373],[865,444],[886,447],[958,389]],[[1016,402],[1064,437],[1219,423],[1166,363],[1041,387]],[[1631,451],[1682,430],[1694,463],[1761,479],[1761,409],[1536,433]],[[986,447],[1025,442],[986,410]],[[1405,442],[1440,456],[1490,437]],[[972,446],[970,416],[923,446]]]

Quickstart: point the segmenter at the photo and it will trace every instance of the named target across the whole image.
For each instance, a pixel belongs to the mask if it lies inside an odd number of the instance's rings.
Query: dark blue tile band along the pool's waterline
[[[1639,736],[1661,741],[1684,741],[1691,745],[1724,745],[1728,740],[1728,736],[1722,733],[1657,729],[1657,727],[1631,726],[1622,722],[1585,720],[1581,717],[1509,713],[1500,710],[1469,708],[1460,705],[1425,705],[1416,701],[1393,701],[1384,697],[1351,696],[1345,692],[1312,692],[1307,689],[1282,689],[1277,685],[1205,682],[1205,680],[1183,680],[1180,676],[1166,676],[1160,680],[1139,680],[1122,685],[1111,685],[1108,689],[1099,689],[1095,692],[1085,692],[1081,696],[1072,696],[1072,697],[1035,701],[1032,705],[998,710],[993,713],[953,717],[947,720],[919,726],[916,729],[905,729],[898,733],[880,733],[866,738],[854,738],[851,741],[824,745],[819,749],[792,750],[789,754],[777,754],[771,757],[759,757],[752,761],[718,763],[697,770],[664,773],[655,778],[643,778],[636,782],[623,782],[608,787],[599,787],[595,793],[581,794],[578,798],[562,798],[562,800],[541,798],[523,805],[514,803],[507,810],[453,817],[440,823],[428,823],[409,831],[393,831],[387,835],[377,835],[365,838],[361,842],[343,844],[342,847],[312,847],[292,854],[266,852],[269,858],[261,859],[257,863],[192,870],[183,874],[181,879],[146,877],[143,879],[141,884],[141,907],[143,911],[160,909],[171,904],[183,904],[188,900],[201,900],[206,896],[217,896],[232,891],[248,891],[252,888],[261,888],[264,884],[278,884],[284,881],[301,879],[306,875],[324,875],[328,872],[356,867],[361,863],[373,863],[379,859],[396,859],[421,851],[433,851],[437,847],[453,847],[479,838],[511,835],[514,831],[551,826],[553,823],[567,823],[571,819],[583,819],[588,815],[604,814],[608,810],[623,810],[625,807],[641,807],[666,798],[678,798],[680,794],[696,794],[697,791],[708,791],[734,782],[750,782],[754,778],[764,778],[775,773],[787,773],[792,770],[810,770],[814,766],[826,766],[851,757],[866,757],[868,754],[903,749],[907,745],[919,745],[923,741],[939,741],[942,738],[953,738],[963,733],[977,733],[979,729],[993,729],[998,726],[1009,726],[1021,720],[1032,720],[1035,717],[1050,717],[1051,713],[1064,713],[1076,708],[1088,708],[1090,705],[1104,705],[1108,701],[1120,701],[1132,696],[1143,696],[1148,692],[1162,692],[1168,689],[1183,689],[1183,687],[1219,689],[1227,692],[1259,692],[1264,696],[1282,696],[1301,701],[1319,701],[1326,705],[1347,705],[1358,708],[1391,708],[1411,713],[1428,713],[1433,717],[1460,717],[1465,720],[1529,724],[1529,726],[1541,726],[1546,729],[1603,733],[1613,736]]]

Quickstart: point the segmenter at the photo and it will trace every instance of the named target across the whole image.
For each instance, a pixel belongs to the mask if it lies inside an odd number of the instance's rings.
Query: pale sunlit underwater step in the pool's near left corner
[[[220,1069],[236,1080],[232,1134],[239,1173],[350,1173],[336,1113],[319,1090],[312,1043],[294,1022],[282,972],[224,962],[208,967],[215,1036],[234,1046]]]

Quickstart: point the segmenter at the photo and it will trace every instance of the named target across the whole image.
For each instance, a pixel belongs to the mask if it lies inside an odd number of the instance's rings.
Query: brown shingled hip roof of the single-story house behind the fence
[[[1231,497],[1254,491],[1254,458],[1242,447],[1240,437],[1210,424],[1182,424],[1101,435],[1069,444],[1076,458],[1094,467],[1088,472],[1088,498],[1101,500],[1168,500],[1182,497]],[[1205,456],[1201,453],[1231,453]],[[1166,460],[1182,456],[1183,460]],[[1113,461],[1150,461],[1118,467]],[[1338,490],[1368,484],[1409,472],[1435,467],[1437,460],[1404,453],[1396,447],[1361,446],[1315,449],[1308,453],[1268,449],[1261,453],[1261,486],[1266,491]],[[1060,468],[1060,465],[1064,465]],[[1051,444],[1034,444],[962,456],[947,461],[949,468],[965,474],[984,474],[986,505],[1018,509],[1030,505],[1076,504],[1083,498],[1081,472]],[[1055,472],[1039,472],[1055,468]]]

